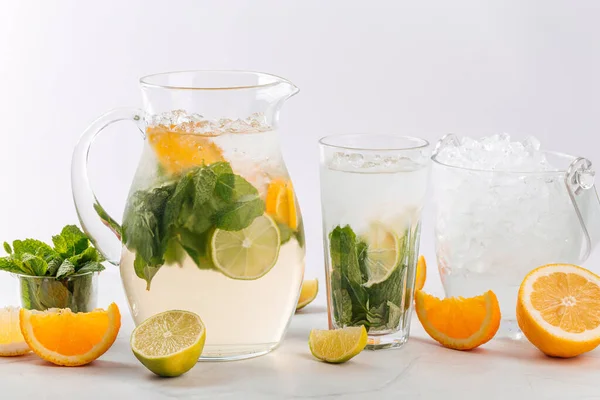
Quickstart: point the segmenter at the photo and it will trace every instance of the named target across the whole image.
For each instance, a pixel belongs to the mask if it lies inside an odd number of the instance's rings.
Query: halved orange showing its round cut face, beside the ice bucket
[[[534,269],[519,289],[517,321],[546,355],[593,350],[600,344],[600,276],[570,264]]]

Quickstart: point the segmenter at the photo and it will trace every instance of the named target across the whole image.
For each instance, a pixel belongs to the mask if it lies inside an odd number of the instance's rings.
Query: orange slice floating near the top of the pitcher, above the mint
[[[170,174],[223,161],[223,152],[210,138],[166,126],[149,127],[148,142],[158,162]]]

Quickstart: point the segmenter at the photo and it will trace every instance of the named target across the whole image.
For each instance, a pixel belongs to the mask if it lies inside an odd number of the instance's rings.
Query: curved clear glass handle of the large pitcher
[[[118,265],[121,255],[121,226],[96,199],[88,177],[88,155],[96,136],[115,122],[133,121],[144,135],[142,116],[143,111],[137,108],[120,108],[102,115],[83,132],[71,160],[71,188],[79,222],[94,246],[114,265]]]

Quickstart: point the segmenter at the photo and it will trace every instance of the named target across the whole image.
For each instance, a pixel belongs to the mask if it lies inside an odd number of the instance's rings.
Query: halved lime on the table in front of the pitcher
[[[160,376],[179,376],[198,361],[206,329],[200,317],[189,311],[166,311],[142,322],[131,334],[131,350],[150,371]]]

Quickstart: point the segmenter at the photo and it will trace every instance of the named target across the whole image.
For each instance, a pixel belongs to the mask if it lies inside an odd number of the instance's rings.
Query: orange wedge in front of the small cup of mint
[[[121,328],[115,303],[108,309],[73,313],[70,309],[47,311],[21,309],[21,333],[38,356],[56,365],[88,364],[112,346]]]

